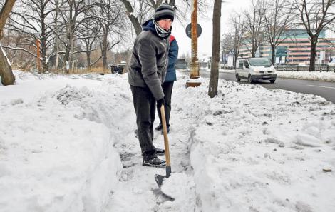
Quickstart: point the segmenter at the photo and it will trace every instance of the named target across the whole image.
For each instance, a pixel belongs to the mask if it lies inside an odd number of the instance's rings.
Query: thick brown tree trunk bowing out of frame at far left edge
[[[2,6],[1,8],[1,11],[0,11],[0,40],[4,36],[4,26],[6,24],[6,21],[9,17],[9,14],[14,4],[15,4],[15,0],[6,0],[4,6]],[[14,84],[15,77],[14,77],[13,72],[11,71],[11,64],[9,64],[9,61],[1,45],[0,45],[0,76],[1,76],[1,83],[4,86]]]

